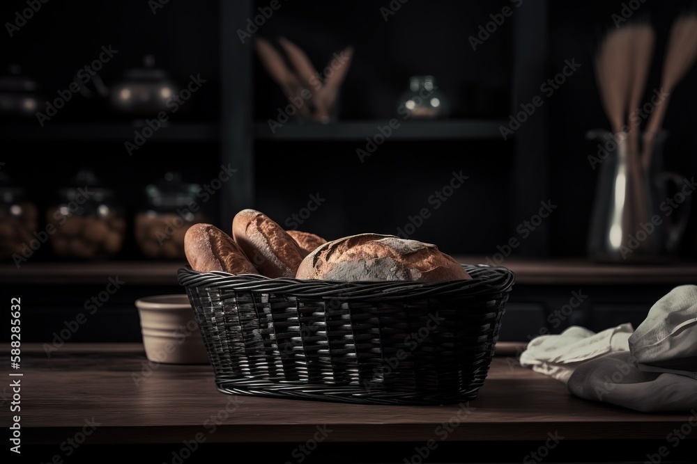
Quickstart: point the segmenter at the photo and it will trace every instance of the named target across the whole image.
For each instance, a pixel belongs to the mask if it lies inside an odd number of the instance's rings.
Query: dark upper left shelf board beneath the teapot
[[[0,125],[0,138],[3,140],[132,142],[135,138],[134,131],[141,132],[143,127],[133,122],[47,122],[44,127],[40,127],[36,121],[12,122]],[[177,122],[154,131],[147,141],[210,142],[217,141],[219,138],[220,125],[217,122]]]

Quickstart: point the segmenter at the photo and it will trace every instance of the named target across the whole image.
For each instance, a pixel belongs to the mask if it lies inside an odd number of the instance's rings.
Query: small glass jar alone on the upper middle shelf
[[[450,113],[450,103],[445,94],[438,90],[433,76],[413,76],[409,79],[409,90],[399,97],[397,113],[410,118],[445,118]]]

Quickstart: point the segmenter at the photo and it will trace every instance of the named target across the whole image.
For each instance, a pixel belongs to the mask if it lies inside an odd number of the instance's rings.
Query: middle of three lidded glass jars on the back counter
[[[123,246],[125,217],[111,189],[90,170],[82,170],[72,186],[59,190],[59,200],[46,212],[54,253],[60,257],[106,259]]]

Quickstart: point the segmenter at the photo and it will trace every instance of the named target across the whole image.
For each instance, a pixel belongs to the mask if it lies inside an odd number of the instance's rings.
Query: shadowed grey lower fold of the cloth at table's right
[[[666,372],[646,372],[631,352],[609,353],[574,370],[567,389],[576,397],[642,413],[688,413],[697,409],[697,381]]]

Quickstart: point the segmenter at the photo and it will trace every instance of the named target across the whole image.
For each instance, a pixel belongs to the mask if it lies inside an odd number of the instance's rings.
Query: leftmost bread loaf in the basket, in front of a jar
[[[194,224],[184,235],[184,254],[191,269],[258,274],[245,253],[228,234],[210,224]]]

